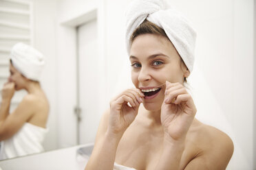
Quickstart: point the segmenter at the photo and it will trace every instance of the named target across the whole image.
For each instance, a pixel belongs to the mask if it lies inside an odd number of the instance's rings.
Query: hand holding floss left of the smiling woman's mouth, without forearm
[[[125,132],[138,114],[142,97],[145,97],[145,95],[140,89],[130,88],[110,102],[109,132],[112,134],[122,134]]]

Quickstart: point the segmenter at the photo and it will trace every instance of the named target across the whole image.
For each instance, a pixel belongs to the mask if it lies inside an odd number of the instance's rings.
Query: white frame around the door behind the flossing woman
[[[58,145],[59,147],[70,147],[72,145],[78,145],[79,141],[79,125],[77,121],[77,116],[74,114],[75,107],[78,103],[77,95],[77,63],[76,59],[78,58],[78,44],[77,44],[77,27],[79,25],[86,24],[89,21],[96,19],[97,22],[97,39],[98,39],[98,60],[102,61],[102,63],[106,63],[107,55],[105,52],[105,1],[102,3],[98,3],[98,5],[94,5],[91,7],[87,7],[82,14],[77,14],[76,16],[72,16],[68,19],[64,19],[59,23],[58,27],[58,57],[61,58],[61,63],[58,66],[58,76],[62,76],[63,69],[66,69],[65,66],[67,62],[69,62],[72,67],[70,67],[69,74],[65,74],[68,81],[67,84],[65,79],[61,78],[59,84],[63,86],[58,90],[58,94],[66,94],[69,96],[69,101],[65,101],[64,109],[63,103],[65,99],[61,99],[61,95],[58,95],[60,101],[58,100],[58,117],[60,123],[58,123]],[[67,45],[68,43],[68,45]],[[64,56],[63,56],[64,55]],[[65,61],[63,61],[65,60]],[[100,94],[101,97],[99,99],[100,104],[105,104],[106,102],[106,92],[104,90],[104,85],[107,82],[107,68],[106,64],[102,64],[100,66],[100,75],[103,75],[103,78],[100,78]],[[69,90],[66,90],[69,88]],[[100,112],[104,112],[105,110],[100,110]],[[65,114],[63,114],[65,112]],[[63,129],[63,126],[70,127],[70,130]]]

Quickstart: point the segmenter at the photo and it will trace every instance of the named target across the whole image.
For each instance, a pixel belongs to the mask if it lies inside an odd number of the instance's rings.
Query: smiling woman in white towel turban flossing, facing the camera
[[[193,29],[178,12],[159,10],[164,5],[158,3],[138,1],[127,12],[135,88],[110,102],[86,170],[220,170],[231,159],[231,138],[195,119],[184,87],[193,68]]]

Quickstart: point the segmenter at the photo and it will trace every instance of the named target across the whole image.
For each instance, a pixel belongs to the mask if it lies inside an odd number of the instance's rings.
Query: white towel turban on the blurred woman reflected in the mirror
[[[19,42],[12,47],[10,59],[14,68],[22,75],[30,80],[39,81],[45,64],[42,53],[23,42]]]

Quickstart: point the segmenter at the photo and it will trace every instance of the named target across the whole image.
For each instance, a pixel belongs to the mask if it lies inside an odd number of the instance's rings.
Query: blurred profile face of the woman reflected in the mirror
[[[21,90],[25,86],[26,78],[17,71],[17,69],[10,64],[10,76],[8,77],[8,82],[14,82],[15,90]]]

